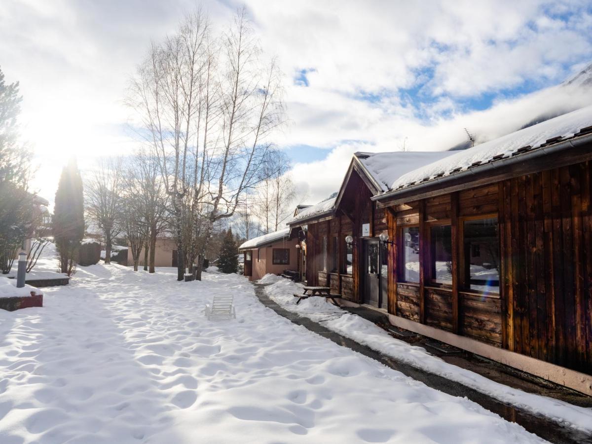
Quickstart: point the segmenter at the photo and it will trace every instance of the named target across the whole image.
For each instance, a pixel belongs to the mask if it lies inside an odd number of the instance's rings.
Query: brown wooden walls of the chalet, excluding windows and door
[[[388,311],[442,330],[592,374],[592,163],[580,162],[379,209],[356,172],[336,216],[308,226],[309,282],[361,301],[362,223],[387,232]],[[499,294],[469,291],[464,221],[498,221]],[[452,285],[430,280],[430,227],[451,224]],[[420,282],[398,282],[401,227],[420,227]],[[319,272],[322,237],[355,239],[353,273]],[[422,240],[423,239],[423,240]],[[330,253],[329,253],[330,255]],[[343,252],[340,250],[340,263]]]

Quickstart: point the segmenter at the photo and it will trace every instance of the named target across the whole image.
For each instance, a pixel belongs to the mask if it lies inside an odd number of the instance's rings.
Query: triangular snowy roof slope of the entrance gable
[[[414,152],[395,151],[388,153],[355,153],[366,172],[388,191],[393,182],[404,174],[453,155],[451,151]]]

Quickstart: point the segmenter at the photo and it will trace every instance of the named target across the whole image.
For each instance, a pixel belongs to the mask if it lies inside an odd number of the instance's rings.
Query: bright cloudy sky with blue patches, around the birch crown
[[[62,166],[138,146],[126,86],[150,41],[205,8],[220,28],[243,2],[2,0],[0,69],[19,81],[22,139],[39,194]],[[560,85],[592,62],[589,1],[247,0],[284,73],[288,123],[274,137],[303,203],[339,188],[352,153],[445,150],[592,103]]]

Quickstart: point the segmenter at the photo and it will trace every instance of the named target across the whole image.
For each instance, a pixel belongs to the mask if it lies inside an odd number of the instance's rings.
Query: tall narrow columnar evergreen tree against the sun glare
[[[82,179],[76,160],[72,159],[62,170],[53,214],[53,236],[60,255],[60,269],[69,276],[76,266],[84,237],[83,202]]]

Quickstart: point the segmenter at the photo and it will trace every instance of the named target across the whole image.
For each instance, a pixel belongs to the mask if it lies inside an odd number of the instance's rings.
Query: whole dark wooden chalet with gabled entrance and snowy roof
[[[587,107],[460,152],[356,153],[289,226],[308,285],[592,395],[591,198]]]

